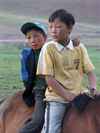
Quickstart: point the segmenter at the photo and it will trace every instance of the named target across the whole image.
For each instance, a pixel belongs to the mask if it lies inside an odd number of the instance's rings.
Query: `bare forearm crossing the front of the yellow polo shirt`
[[[74,96],[67,92],[55,79],[53,76],[45,76],[46,83],[59,95],[67,99],[68,101],[73,100]]]

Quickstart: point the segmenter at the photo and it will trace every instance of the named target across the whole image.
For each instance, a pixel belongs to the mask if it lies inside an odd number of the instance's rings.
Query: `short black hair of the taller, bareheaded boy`
[[[59,18],[61,21],[63,21],[67,25],[67,27],[75,24],[73,15],[68,13],[64,9],[59,9],[53,12],[49,17],[49,22],[53,22],[56,18]]]

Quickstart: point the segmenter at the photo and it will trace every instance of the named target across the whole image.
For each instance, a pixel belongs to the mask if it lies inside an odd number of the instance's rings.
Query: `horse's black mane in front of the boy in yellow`
[[[70,103],[70,105],[74,105],[76,110],[78,112],[81,112],[85,106],[89,103],[89,101],[98,101],[100,100],[100,96],[95,97],[94,99],[91,99],[90,97],[88,97],[86,94],[79,94],[78,96],[76,96]]]

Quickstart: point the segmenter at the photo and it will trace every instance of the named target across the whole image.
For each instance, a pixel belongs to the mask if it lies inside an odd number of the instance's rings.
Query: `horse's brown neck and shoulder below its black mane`
[[[74,106],[66,111],[62,133],[100,133],[100,98],[92,100],[83,111]]]

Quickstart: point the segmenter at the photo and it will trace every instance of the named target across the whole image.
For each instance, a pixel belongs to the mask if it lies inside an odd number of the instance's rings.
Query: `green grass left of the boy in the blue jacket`
[[[0,47],[0,100],[23,89],[18,47]]]

